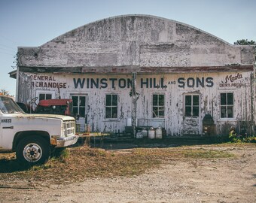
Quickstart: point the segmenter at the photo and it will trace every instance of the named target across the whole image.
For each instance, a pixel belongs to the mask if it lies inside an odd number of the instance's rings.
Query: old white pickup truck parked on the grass
[[[0,153],[16,152],[20,162],[42,164],[56,147],[77,141],[73,117],[26,114],[12,98],[0,95]]]

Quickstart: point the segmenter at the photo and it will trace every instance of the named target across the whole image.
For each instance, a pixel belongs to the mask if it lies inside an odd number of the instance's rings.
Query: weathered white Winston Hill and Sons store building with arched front
[[[81,26],[40,47],[19,47],[17,101],[72,98],[95,132],[133,125],[201,135],[254,131],[254,47],[160,17],[128,15]],[[84,118],[84,120],[83,120]]]

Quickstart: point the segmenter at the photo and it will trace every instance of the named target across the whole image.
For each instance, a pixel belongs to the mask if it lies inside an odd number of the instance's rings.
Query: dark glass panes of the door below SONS
[[[185,116],[199,117],[199,95],[185,95]]]

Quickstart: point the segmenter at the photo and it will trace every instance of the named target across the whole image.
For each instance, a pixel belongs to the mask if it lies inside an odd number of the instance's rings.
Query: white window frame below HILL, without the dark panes
[[[157,95],[157,105],[154,105],[154,95]],[[160,105],[160,99],[159,96],[163,95],[163,105]],[[152,93],[152,97],[151,97],[151,104],[152,104],[152,108],[151,108],[151,117],[154,119],[163,119],[165,118],[166,115],[166,94],[163,92],[153,92]],[[155,114],[155,108],[157,108],[157,114]],[[161,109],[163,108],[163,109]],[[163,115],[160,115],[160,111],[163,111]]]

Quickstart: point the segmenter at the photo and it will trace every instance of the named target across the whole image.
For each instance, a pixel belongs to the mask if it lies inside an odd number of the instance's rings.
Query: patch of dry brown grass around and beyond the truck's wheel
[[[0,154],[0,181],[23,179],[70,183],[87,177],[133,176],[150,168],[159,167],[167,159],[230,158],[233,154],[221,150],[206,150],[190,147],[137,148],[130,153],[108,151],[87,146],[64,150],[62,156],[52,158],[45,165],[24,168],[16,161],[14,153]]]

